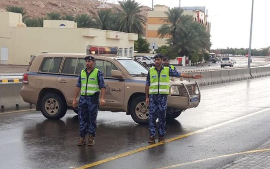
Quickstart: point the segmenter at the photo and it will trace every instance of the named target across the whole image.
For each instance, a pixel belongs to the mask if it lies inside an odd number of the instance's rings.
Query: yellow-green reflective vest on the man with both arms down
[[[86,86],[87,85],[87,86]],[[87,79],[86,70],[81,71],[81,95],[91,96],[99,91],[98,69],[95,68]]]

